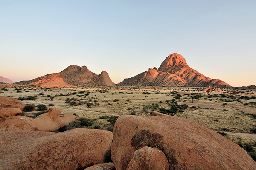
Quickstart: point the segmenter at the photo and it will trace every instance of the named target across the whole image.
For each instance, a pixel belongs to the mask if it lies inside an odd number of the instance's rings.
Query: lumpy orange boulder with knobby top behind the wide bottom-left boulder
[[[77,119],[73,114],[60,114],[60,109],[50,108],[35,119],[20,115],[0,118],[0,131],[38,130],[54,132]]]

